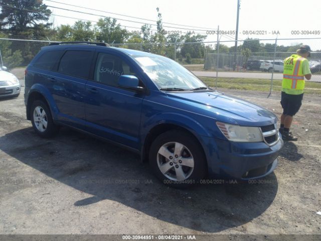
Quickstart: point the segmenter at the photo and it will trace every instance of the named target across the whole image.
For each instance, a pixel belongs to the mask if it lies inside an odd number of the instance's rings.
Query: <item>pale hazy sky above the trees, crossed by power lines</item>
[[[117,0],[117,1],[79,1],[79,0],[55,0],[56,2],[68,3],[83,8],[67,6],[44,0],[49,6],[77,10],[92,14],[98,14],[111,18],[118,18],[117,22],[122,26],[128,26],[128,31],[139,31],[141,23],[156,24],[158,7],[162,13],[163,27],[166,31],[179,31],[185,34],[187,31],[206,34],[211,29],[217,30],[218,26],[223,31],[235,31],[237,16],[237,0]],[[142,19],[128,18],[115,14],[97,12],[91,9],[98,9],[110,13],[127,15]],[[69,12],[60,9],[49,8],[54,15],[68,16],[85,20],[97,21],[98,16]],[[246,38],[259,39],[284,39],[284,38],[321,38],[321,21],[319,19],[321,11],[321,1],[319,0],[241,0],[239,15],[239,36],[240,40]],[[54,16],[55,27],[61,24],[70,24],[77,20]],[[94,22],[93,22],[94,24]],[[175,25],[176,24],[176,25]],[[187,26],[179,26],[187,25]],[[170,28],[170,27],[176,28]],[[134,28],[135,27],[135,28]],[[183,29],[184,28],[184,29]],[[155,30],[156,26],[152,26]],[[248,31],[248,32],[246,32]],[[292,31],[298,31],[293,33]],[[319,31],[319,33],[300,33],[300,31]],[[154,32],[154,31],[153,31]],[[259,32],[260,34],[257,34]],[[254,34],[253,34],[254,33]],[[298,33],[298,34],[297,34]],[[235,39],[234,34],[220,35],[220,41],[231,41]],[[208,32],[205,41],[216,41],[217,35]],[[274,43],[274,41],[261,41],[262,43]],[[278,45],[293,45],[297,43],[309,44],[311,49],[321,49],[321,39],[317,40],[279,40]],[[233,42],[225,42],[228,46]]]

